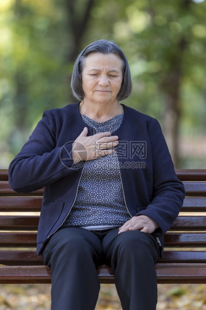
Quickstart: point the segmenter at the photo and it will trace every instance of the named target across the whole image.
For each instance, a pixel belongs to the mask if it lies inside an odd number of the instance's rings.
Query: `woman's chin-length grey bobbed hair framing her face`
[[[113,41],[107,41],[104,39],[97,40],[86,46],[78,55],[72,72],[71,77],[71,89],[74,97],[78,100],[83,100],[84,92],[82,89],[82,70],[84,67],[85,58],[94,52],[102,54],[117,54],[122,59],[122,85],[120,91],[117,94],[117,100],[121,101],[126,99],[132,90],[131,73],[127,58],[122,49]]]

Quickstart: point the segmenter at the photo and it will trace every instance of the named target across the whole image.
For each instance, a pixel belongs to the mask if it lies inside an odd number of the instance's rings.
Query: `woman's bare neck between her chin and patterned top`
[[[79,105],[79,111],[89,118],[103,122],[118,114],[124,113],[124,108],[119,102],[105,105],[101,103],[87,104],[87,102],[82,100]]]

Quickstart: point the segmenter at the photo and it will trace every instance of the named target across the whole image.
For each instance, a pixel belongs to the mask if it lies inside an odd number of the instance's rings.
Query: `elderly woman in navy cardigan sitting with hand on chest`
[[[9,166],[14,190],[45,186],[37,254],[51,267],[51,308],[94,309],[105,262],[123,310],[154,310],[155,263],[184,186],[158,121],[119,103],[131,76],[118,45],[85,47],[71,88],[79,102],[45,111]]]

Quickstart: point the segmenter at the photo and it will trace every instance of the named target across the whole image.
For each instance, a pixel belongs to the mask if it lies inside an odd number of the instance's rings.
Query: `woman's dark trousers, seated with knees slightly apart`
[[[51,267],[52,310],[94,310],[102,261],[112,266],[123,310],[156,309],[159,244],[148,233],[66,227],[51,236],[42,257]]]

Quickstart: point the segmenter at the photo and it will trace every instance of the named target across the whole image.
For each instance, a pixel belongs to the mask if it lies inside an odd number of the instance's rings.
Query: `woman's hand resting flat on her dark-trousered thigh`
[[[139,215],[133,216],[119,228],[119,233],[127,230],[140,230],[143,232],[152,233],[158,224],[149,216]]]

